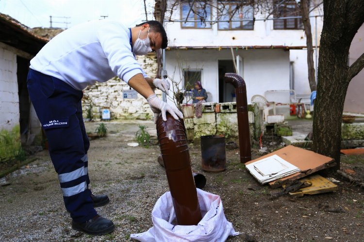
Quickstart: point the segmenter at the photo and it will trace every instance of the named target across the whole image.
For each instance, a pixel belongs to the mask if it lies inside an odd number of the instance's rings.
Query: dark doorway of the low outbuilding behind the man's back
[[[17,86],[19,93],[20,134],[22,141],[30,127],[30,100],[27,88],[29,60],[17,56]]]

